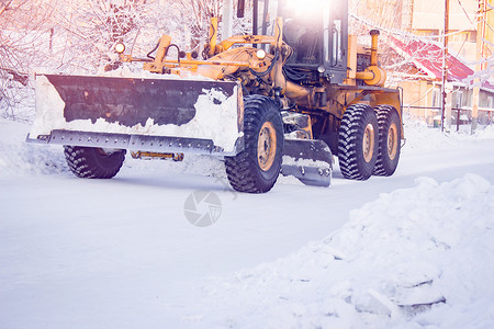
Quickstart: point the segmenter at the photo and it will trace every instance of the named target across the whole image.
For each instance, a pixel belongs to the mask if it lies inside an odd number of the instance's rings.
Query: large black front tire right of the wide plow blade
[[[265,125],[276,132],[272,164],[262,170],[258,160],[258,139]],[[225,157],[226,175],[232,188],[239,192],[266,193],[278,180],[283,157],[283,122],[278,105],[263,95],[244,98],[244,150],[235,157]]]

